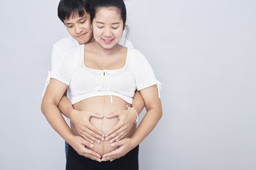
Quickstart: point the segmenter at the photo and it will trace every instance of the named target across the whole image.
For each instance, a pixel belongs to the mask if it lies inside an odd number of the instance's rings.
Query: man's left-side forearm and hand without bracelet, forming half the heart
[[[67,91],[61,98],[58,108],[65,117],[69,118],[71,122],[74,123],[78,134],[84,139],[91,143],[93,143],[93,141],[100,143],[100,140],[104,140],[104,134],[90,122],[91,117],[102,118],[103,115],[92,111],[75,110],[67,97]]]

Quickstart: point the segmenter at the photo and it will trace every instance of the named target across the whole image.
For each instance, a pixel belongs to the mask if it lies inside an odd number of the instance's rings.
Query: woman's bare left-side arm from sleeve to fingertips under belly
[[[77,153],[79,153],[79,155],[100,161],[99,153],[93,152],[85,147],[93,147],[93,144],[89,143],[81,136],[75,136],[58,109],[58,104],[60,103],[65,90],[67,90],[67,85],[51,78],[42,101],[42,113],[44,113],[45,118],[49,124],[51,124],[52,128],[58,132],[58,134],[60,134],[60,136],[65,139]]]

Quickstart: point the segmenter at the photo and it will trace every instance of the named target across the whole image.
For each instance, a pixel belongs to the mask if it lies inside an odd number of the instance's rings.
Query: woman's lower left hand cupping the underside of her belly
[[[86,141],[81,136],[74,136],[70,145],[79,155],[101,162],[99,153],[90,150],[90,148],[93,148],[94,145]],[[86,146],[90,148],[86,148]]]

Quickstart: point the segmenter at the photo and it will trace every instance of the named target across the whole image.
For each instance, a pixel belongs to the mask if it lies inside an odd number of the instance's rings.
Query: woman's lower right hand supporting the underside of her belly
[[[104,155],[102,155],[101,161],[113,161],[115,159],[123,157],[126,153],[135,148],[134,142],[132,142],[131,138],[125,138],[115,143],[111,143],[111,146],[119,147],[113,150],[112,152],[105,153]]]

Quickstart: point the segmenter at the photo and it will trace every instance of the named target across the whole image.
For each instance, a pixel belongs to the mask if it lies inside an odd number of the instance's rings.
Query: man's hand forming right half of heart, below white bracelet
[[[131,130],[136,120],[136,113],[133,110],[119,110],[106,115],[106,118],[118,117],[119,122],[106,134],[106,141],[110,143],[119,141]]]

